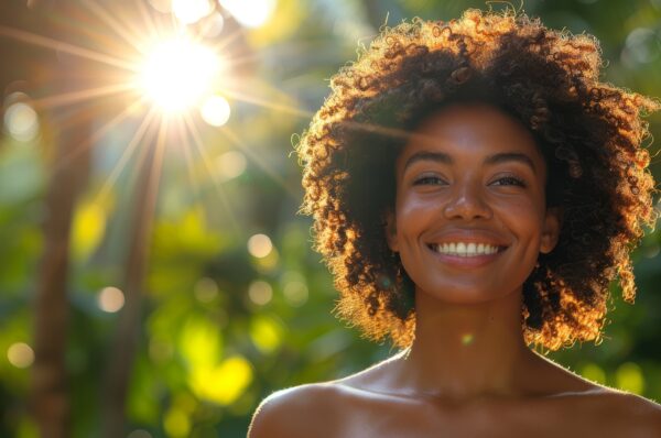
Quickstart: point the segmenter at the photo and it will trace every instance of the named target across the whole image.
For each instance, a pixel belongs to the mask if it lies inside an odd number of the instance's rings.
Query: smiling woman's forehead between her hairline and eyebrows
[[[521,153],[544,167],[530,131],[507,112],[484,103],[455,103],[431,113],[411,133],[398,162],[422,150],[441,150],[475,161],[498,153]]]

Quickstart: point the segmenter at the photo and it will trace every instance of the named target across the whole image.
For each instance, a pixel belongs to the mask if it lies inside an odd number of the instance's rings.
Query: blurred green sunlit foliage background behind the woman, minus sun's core
[[[296,213],[292,144],[328,78],[383,23],[507,4],[3,1],[0,436],[37,436],[30,413],[41,406],[64,424],[53,436],[112,436],[119,408],[121,436],[241,437],[271,392],[391,354],[332,315],[330,275]],[[594,34],[605,80],[661,96],[661,0],[528,0],[523,10]],[[214,90],[225,112],[192,108],[159,128],[139,92],[112,87],[140,64],[145,35],[173,30],[225,57]],[[648,120],[660,136],[660,114]],[[661,180],[660,146],[650,147]],[[614,291],[600,346],[552,359],[661,401],[660,244],[650,232],[635,252],[636,305]]]

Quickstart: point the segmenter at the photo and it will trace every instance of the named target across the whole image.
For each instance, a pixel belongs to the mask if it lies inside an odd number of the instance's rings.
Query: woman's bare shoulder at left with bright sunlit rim
[[[259,405],[249,438],[323,437],[330,427],[340,391],[333,383],[314,383],[278,391]]]

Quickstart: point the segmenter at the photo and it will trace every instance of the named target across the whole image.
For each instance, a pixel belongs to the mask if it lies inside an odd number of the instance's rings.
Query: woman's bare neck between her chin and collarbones
[[[416,292],[415,340],[402,361],[411,391],[466,399],[514,395],[533,353],[521,331],[521,292],[481,304]]]

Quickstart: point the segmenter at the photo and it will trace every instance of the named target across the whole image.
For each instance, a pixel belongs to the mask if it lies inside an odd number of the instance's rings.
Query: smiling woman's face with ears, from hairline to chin
[[[557,240],[545,172],[532,135],[494,107],[453,105],[425,119],[397,161],[387,230],[418,292],[466,304],[520,293]]]

